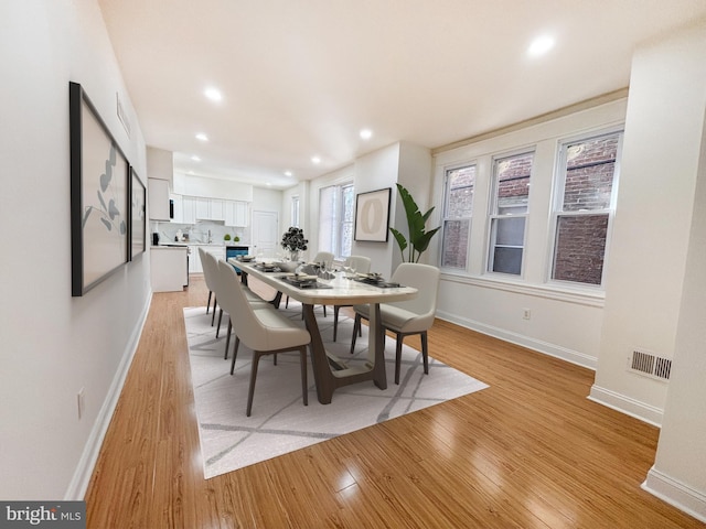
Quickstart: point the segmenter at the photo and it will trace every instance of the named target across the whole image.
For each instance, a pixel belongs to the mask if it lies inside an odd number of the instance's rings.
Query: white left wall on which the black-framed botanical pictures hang
[[[71,296],[68,82],[84,86],[147,183],[145,141],[95,1],[0,2],[0,498],[79,499],[150,287],[146,253]]]

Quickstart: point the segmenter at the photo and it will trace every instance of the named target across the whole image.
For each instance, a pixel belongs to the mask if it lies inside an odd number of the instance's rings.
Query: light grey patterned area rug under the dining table
[[[289,301],[284,314],[300,325],[301,305]],[[349,365],[365,361],[367,327],[357,338],[355,354],[350,354],[353,321],[339,317],[338,341],[333,336],[333,310],[323,317],[315,307],[317,321],[327,350]],[[211,314],[204,306],[184,309],[189,339],[192,384],[204,476],[211,478],[238,468],[303,449],[366,428],[405,413],[454,399],[488,386],[434,358],[429,358],[429,375],[424,375],[421,354],[404,346],[399,386],[394,384],[395,341],[387,337],[387,389],[378,389],[372,381],[336,389],[330,404],[317,400],[311,359],[309,365],[309,406],[301,402],[301,378],[298,353],[266,356],[259,363],[253,413],[246,417],[252,350],[240,344],[231,376],[231,359],[223,358],[227,316],[224,315],[220,337],[211,326]],[[216,315],[217,321],[217,315]],[[414,341],[415,337],[407,338]],[[418,339],[418,338],[416,338]],[[228,358],[233,354],[233,342]]]

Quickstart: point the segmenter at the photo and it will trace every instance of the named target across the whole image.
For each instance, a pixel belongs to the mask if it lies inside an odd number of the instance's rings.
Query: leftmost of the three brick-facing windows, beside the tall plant
[[[441,267],[466,269],[474,188],[475,165],[446,172]]]

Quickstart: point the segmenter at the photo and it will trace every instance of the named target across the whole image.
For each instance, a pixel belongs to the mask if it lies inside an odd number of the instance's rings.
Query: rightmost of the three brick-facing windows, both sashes
[[[600,285],[622,132],[561,145],[552,279]]]

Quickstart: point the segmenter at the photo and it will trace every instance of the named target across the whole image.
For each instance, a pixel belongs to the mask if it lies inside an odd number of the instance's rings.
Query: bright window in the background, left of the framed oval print
[[[355,190],[353,184],[331,185],[319,192],[319,250],[349,257],[353,246]]]

